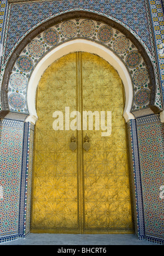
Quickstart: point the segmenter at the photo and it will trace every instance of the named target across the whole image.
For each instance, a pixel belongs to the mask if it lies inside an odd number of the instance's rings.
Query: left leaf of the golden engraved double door
[[[77,152],[73,131],[54,131],[52,114],[77,108],[76,54],[62,57],[43,74],[38,86],[33,177],[32,232],[79,232]],[[76,132],[74,133],[76,136]],[[77,231],[78,230],[78,231]]]

